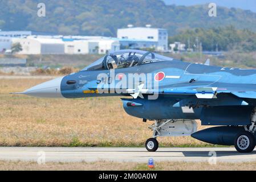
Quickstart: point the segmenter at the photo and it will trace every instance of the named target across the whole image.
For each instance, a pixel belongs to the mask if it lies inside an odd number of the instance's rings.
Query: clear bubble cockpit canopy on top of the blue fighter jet
[[[171,61],[170,57],[158,55],[156,53],[141,50],[121,50],[111,52],[101,59],[95,61],[82,71],[89,70],[105,70],[105,69],[121,69],[135,67],[137,65],[154,63],[157,61]]]

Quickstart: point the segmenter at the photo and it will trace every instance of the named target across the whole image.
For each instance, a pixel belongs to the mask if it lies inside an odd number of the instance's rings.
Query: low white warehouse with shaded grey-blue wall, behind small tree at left
[[[64,54],[64,42],[62,39],[44,39],[44,38],[14,38],[13,43],[20,43],[22,51],[19,54],[37,55],[37,54]]]

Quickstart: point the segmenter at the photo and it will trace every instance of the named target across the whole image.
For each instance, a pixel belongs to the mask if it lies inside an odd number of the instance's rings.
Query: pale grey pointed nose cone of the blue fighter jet
[[[60,84],[62,82],[62,78],[55,78],[54,80],[50,80],[44,82],[42,84],[36,85],[30,89],[27,89],[22,94],[26,94],[34,97],[46,97],[46,98],[59,98],[63,97],[60,92]]]

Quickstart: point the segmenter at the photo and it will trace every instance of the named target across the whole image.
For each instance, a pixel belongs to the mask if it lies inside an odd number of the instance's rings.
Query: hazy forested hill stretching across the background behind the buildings
[[[37,15],[45,3],[46,17]],[[168,28],[174,35],[194,27],[236,28],[256,31],[256,13],[218,7],[217,17],[208,16],[207,5],[174,6],[161,0],[0,0],[0,29],[32,30],[63,35],[116,36],[127,24]]]

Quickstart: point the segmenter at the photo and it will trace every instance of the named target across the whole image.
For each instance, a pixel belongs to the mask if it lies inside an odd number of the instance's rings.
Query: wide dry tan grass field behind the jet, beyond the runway
[[[152,122],[126,114],[118,97],[56,100],[9,94],[44,81],[0,80],[0,146],[144,146],[152,136],[148,129]],[[191,137],[159,138],[159,142],[212,146]]]

